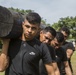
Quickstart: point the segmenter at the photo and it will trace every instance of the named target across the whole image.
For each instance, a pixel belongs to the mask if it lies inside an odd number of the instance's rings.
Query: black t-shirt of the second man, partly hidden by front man
[[[53,47],[51,47],[49,45],[47,45],[47,46],[49,48],[49,52],[50,52],[50,55],[52,58],[52,63],[55,63],[56,62],[55,50]],[[40,72],[40,75],[48,75],[42,60],[40,60],[40,62],[39,62],[39,72]]]

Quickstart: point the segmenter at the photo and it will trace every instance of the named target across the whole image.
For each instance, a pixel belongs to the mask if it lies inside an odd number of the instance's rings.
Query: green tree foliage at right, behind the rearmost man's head
[[[76,16],[60,18],[60,20],[57,23],[54,23],[52,25],[52,27],[56,30],[59,30],[62,26],[67,26],[71,31],[72,37],[70,38],[76,39]]]

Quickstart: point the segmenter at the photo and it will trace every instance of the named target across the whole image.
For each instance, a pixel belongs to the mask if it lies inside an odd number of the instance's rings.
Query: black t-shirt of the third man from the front
[[[67,55],[66,55],[65,50],[62,47],[56,49],[55,52],[56,52],[57,65],[58,65],[58,68],[59,68],[60,73],[61,73],[62,62],[67,61]]]

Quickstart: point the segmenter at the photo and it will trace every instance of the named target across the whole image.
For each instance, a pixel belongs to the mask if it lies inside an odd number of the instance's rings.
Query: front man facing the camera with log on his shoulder
[[[28,13],[22,23],[21,40],[10,40],[9,48],[7,44],[5,44],[5,47],[3,44],[3,50],[7,48],[9,50],[8,55],[10,55],[10,65],[5,75],[39,75],[40,59],[43,60],[48,75],[55,75],[47,45],[35,39],[40,23],[41,17],[39,14]]]

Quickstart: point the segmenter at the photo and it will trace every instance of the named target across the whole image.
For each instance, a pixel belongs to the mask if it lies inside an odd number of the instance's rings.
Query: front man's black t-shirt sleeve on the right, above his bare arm
[[[42,43],[42,61],[44,64],[52,62],[49,48],[46,44],[43,44],[43,43]]]

